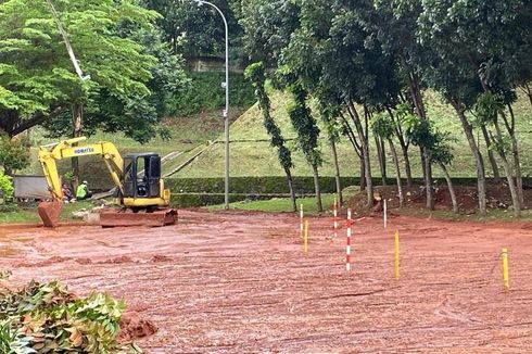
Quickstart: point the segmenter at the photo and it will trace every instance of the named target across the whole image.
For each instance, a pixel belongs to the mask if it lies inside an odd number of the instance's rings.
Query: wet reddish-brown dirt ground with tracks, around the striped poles
[[[532,225],[364,218],[345,271],[344,232],[292,215],[180,212],[142,229],[0,229],[12,286],[61,279],[126,299],[159,331],[149,353],[530,353]],[[401,231],[401,280],[393,229]],[[509,250],[511,291],[499,252]]]

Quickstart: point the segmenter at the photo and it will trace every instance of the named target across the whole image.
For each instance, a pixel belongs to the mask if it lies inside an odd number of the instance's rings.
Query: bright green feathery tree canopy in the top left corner
[[[157,59],[119,29],[126,24],[151,29],[157,14],[132,0],[62,1],[58,12],[91,80],[81,83],[73,73],[45,1],[4,1],[0,4],[0,23],[7,24],[0,28],[0,128],[13,137],[83,105],[86,113],[102,110],[106,115],[113,109],[115,116],[127,112],[130,118],[140,116],[138,123],[148,123],[140,124],[140,131],[135,124],[123,127],[127,121],[109,124],[145,141],[150,137],[145,129],[156,122],[156,114],[143,99],[152,94],[148,83]],[[102,101],[109,102],[106,108],[100,105]]]

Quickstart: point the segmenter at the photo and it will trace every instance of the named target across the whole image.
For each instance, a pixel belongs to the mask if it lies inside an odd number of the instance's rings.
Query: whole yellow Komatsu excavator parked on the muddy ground
[[[131,153],[124,157],[111,142],[79,146],[85,137],[42,146],[39,162],[42,166],[51,201],[41,202],[38,213],[46,227],[55,227],[63,205],[63,189],[58,173],[59,160],[99,155],[105,162],[116,186],[114,204],[100,213],[102,227],[174,225],[177,211],[169,208],[170,191],[161,178],[161,157],[155,153]]]

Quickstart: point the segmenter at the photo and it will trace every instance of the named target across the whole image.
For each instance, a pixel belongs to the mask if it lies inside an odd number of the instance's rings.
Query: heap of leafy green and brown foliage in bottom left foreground
[[[123,301],[98,292],[77,298],[60,282],[0,290],[2,353],[135,353],[116,341]]]

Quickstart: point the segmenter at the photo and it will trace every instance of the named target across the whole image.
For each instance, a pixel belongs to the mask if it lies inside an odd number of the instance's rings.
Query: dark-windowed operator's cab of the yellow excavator
[[[155,153],[124,156],[124,197],[159,198],[161,195],[161,157]]]

